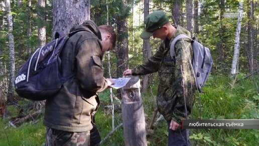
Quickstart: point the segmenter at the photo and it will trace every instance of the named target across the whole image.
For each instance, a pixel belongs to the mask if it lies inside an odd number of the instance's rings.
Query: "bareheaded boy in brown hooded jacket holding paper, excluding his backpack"
[[[90,20],[71,28],[70,34],[60,54],[61,74],[75,76],[46,101],[46,145],[99,145],[93,122],[100,104],[97,93],[113,84],[103,77],[101,60],[105,51],[114,48],[116,35],[111,26],[97,27]]]

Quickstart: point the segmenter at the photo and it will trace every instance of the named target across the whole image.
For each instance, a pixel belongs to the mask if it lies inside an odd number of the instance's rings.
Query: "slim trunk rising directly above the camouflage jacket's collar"
[[[187,30],[191,32],[191,36],[193,36],[193,21],[192,21],[192,4],[193,0],[186,1],[186,22],[187,22]]]

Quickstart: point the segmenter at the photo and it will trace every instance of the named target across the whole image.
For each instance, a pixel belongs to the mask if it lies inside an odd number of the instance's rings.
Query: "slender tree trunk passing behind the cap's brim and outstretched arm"
[[[149,15],[149,0],[144,0],[144,19]],[[143,40],[143,62],[147,61],[147,59],[152,55],[151,54],[151,47],[150,47],[150,39]],[[149,83],[152,80],[152,77],[149,75],[145,75],[143,77],[143,86],[142,92],[146,93]]]

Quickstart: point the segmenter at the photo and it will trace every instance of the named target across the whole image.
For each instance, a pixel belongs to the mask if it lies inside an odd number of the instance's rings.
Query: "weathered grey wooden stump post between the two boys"
[[[138,76],[131,76],[126,86],[121,88],[121,97],[125,146],[147,145],[145,115]]]

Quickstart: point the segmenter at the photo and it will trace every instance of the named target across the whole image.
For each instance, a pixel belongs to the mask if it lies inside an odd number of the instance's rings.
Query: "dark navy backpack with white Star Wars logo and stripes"
[[[57,93],[74,74],[61,77],[59,54],[68,40],[64,32],[57,32],[55,39],[38,48],[20,68],[15,90],[19,96],[30,100],[45,100]]]

